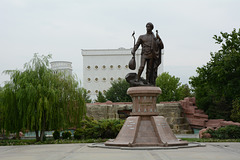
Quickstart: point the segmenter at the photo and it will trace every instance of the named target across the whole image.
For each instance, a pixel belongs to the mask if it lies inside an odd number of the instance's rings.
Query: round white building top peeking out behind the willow
[[[72,62],[68,61],[53,61],[50,62],[51,69],[54,72],[63,72],[66,76],[72,75]]]

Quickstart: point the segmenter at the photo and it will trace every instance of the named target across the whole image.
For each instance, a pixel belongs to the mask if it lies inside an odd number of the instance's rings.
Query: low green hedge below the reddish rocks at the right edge
[[[207,133],[210,133],[212,138],[218,139],[238,139],[240,138],[240,126],[229,125],[218,128],[217,130],[209,129]]]

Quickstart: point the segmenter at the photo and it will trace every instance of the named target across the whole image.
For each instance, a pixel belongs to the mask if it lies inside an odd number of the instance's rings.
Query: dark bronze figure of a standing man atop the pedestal
[[[141,45],[141,62],[138,70],[136,83],[140,81],[142,72],[144,70],[145,65],[146,69],[146,85],[155,85],[155,80],[157,78],[157,69],[161,64],[161,50],[164,48],[163,42],[158,35],[158,31],[156,30],[156,37],[152,32],[154,26],[152,23],[146,24],[147,33],[139,36],[138,41],[134,48],[132,49],[132,54],[135,56],[135,52],[138,47]]]

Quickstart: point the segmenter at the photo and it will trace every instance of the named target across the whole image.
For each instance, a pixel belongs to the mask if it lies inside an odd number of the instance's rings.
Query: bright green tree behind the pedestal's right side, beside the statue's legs
[[[162,90],[162,94],[158,96],[157,102],[179,101],[185,97],[192,96],[187,84],[182,85],[180,78],[171,76],[167,72],[157,77],[156,86]]]

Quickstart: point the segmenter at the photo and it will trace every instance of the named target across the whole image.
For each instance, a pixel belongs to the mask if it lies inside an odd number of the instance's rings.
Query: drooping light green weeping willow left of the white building
[[[54,74],[49,68],[50,58],[34,54],[24,71],[5,71],[11,79],[3,88],[7,131],[32,130],[42,141],[46,130],[78,127],[86,114],[82,89],[75,77]]]

